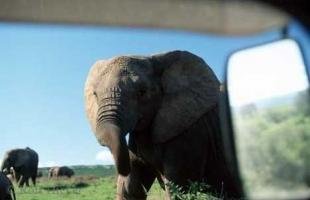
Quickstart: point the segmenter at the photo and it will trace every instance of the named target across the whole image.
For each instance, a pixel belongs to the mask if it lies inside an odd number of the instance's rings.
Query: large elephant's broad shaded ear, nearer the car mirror
[[[192,53],[173,51],[151,60],[161,74],[164,93],[152,137],[162,143],[184,132],[217,104],[220,83],[210,67]]]

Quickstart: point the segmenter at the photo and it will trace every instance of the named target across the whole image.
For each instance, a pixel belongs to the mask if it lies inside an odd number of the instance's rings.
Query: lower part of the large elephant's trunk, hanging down
[[[109,147],[119,174],[127,176],[130,172],[129,152],[121,129],[112,123],[97,127],[97,139]]]

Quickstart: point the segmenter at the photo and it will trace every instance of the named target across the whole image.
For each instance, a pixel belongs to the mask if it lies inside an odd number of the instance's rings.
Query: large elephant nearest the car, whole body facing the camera
[[[119,199],[146,199],[156,177],[183,188],[205,181],[217,194],[240,197],[223,158],[220,82],[203,59],[172,51],[100,60],[84,92],[91,128],[119,173]]]

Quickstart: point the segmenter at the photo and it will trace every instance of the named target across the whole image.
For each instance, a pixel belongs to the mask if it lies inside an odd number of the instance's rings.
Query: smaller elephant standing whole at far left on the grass
[[[29,178],[31,178],[33,185],[36,185],[38,163],[38,154],[29,147],[25,149],[13,149],[5,153],[1,171],[9,172],[12,167],[15,171],[15,179],[19,187],[23,187],[24,184],[29,186]]]

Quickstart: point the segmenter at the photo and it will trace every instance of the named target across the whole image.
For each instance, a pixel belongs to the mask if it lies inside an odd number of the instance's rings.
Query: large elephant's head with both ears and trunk
[[[130,172],[125,135],[150,134],[155,143],[184,131],[217,103],[219,81],[208,65],[186,51],[98,61],[85,84],[86,112],[117,170]]]

